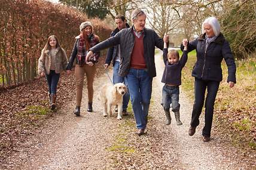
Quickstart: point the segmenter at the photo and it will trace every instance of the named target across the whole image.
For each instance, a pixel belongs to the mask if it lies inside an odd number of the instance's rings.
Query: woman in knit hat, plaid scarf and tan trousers
[[[80,107],[83,94],[84,74],[86,74],[88,107],[87,112],[93,112],[93,79],[96,73],[95,64],[99,58],[99,52],[96,52],[86,63],[86,54],[90,48],[99,43],[99,36],[93,34],[92,23],[89,21],[80,24],[80,35],[75,37],[75,44],[66,67],[68,75],[71,73],[75,61],[75,80],[76,80],[76,104],[74,114],[80,116]]]

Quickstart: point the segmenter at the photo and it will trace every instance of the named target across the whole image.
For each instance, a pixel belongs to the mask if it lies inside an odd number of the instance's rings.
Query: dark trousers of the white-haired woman
[[[214,101],[217,95],[220,82],[205,81],[195,78],[194,81],[194,106],[190,125],[196,127],[199,125],[199,116],[201,115],[203,103],[205,101],[205,127],[203,136],[211,137],[212,117],[214,116]],[[207,95],[205,100],[205,91]]]

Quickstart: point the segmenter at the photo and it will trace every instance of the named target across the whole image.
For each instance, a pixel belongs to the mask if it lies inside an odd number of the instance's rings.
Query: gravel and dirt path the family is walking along
[[[153,95],[147,134],[135,134],[133,115],[116,120],[103,118],[97,99],[93,113],[86,112],[87,96],[83,95],[81,117],[73,116],[75,104],[67,104],[63,114],[55,116],[35,132],[29,144],[8,160],[7,169],[253,169],[245,159],[225,147],[218,137],[209,143],[202,141],[202,124],[193,137],[188,136],[192,103],[180,94],[181,120],[177,126],[164,125],[161,103],[161,52],[156,56],[157,78],[153,81]],[[108,82],[102,75],[95,80],[95,89]],[[86,94],[86,91],[84,91]],[[213,129],[214,131],[214,129]]]

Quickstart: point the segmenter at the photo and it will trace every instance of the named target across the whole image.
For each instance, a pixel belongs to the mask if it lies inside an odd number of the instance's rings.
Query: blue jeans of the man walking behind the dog
[[[126,111],[128,107],[128,103],[130,100],[130,93],[129,93],[129,88],[127,84],[127,79],[126,77],[122,77],[118,75],[118,70],[119,70],[120,62],[115,61],[114,67],[113,67],[113,83],[124,83],[127,86],[127,92],[123,96],[123,110]]]

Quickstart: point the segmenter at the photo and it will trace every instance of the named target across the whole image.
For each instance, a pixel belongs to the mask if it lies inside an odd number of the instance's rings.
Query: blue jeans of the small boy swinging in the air
[[[179,86],[163,86],[161,105],[164,110],[169,111],[170,104],[172,104],[172,112],[179,111]]]

